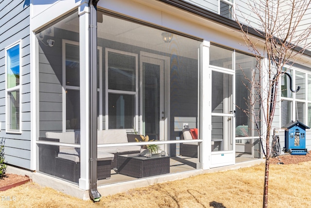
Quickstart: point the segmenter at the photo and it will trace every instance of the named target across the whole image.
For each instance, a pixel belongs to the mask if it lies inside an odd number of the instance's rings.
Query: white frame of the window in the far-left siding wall
[[[7,72],[8,72],[8,50],[10,50],[11,48],[15,47],[15,46],[19,46],[19,84],[15,87],[12,88],[8,88],[7,83]],[[22,83],[22,76],[21,76],[21,40],[18,40],[17,42],[13,43],[12,45],[9,45],[8,47],[5,48],[5,123],[6,123],[6,127],[5,127],[5,132],[7,133],[17,133],[20,134],[21,133],[21,83]],[[9,104],[9,93],[15,92],[15,91],[19,91],[19,129],[18,130],[12,130],[9,129],[10,126],[10,115],[11,112],[10,111],[10,104]]]

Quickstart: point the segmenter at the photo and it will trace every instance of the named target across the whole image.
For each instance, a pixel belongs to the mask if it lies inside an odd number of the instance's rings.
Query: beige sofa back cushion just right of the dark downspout
[[[127,143],[125,129],[100,130],[97,131],[98,144]]]

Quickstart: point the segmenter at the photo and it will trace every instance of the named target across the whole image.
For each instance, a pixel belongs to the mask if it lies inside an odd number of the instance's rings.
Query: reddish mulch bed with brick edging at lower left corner
[[[0,191],[11,189],[30,181],[27,175],[5,174],[0,179]]]

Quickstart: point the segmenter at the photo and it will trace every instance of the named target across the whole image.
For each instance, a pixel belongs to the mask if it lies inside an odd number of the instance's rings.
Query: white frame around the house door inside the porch
[[[140,133],[142,134],[143,133],[143,120],[142,120],[142,111],[143,111],[143,100],[142,100],[142,97],[143,97],[143,91],[142,91],[142,88],[143,88],[143,73],[142,73],[142,63],[144,62],[144,57],[147,57],[147,58],[154,58],[154,59],[159,59],[159,60],[162,60],[163,63],[164,63],[164,69],[163,69],[163,77],[164,77],[164,91],[163,91],[163,94],[164,95],[160,95],[160,96],[163,96],[164,98],[164,106],[163,106],[163,109],[164,109],[164,138],[163,140],[168,140],[169,136],[170,136],[170,132],[169,132],[169,124],[170,124],[170,57],[165,57],[165,56],[161,56],[161,55],[157,55],[157,54],[152,54],[152,53],[147,53],[147,52],[143,52],[141,51],[140,52],[140,55],[139,55],[139,67],[140,67],[140,79],[139,79],[139,97],[140,97],[140,113],[139,113],[139,130],[140,130]],[[169,90],[167,90],[169,89]],[[165,148],[167,149],[167,148]],[[168,152],[168,150],[165,150],[166,152]]]

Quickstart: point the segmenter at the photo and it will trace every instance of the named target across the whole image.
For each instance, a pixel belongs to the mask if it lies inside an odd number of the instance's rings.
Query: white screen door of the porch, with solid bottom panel
[[[211,87],[211,168],[235,163],[234,74],[212,70]]]

